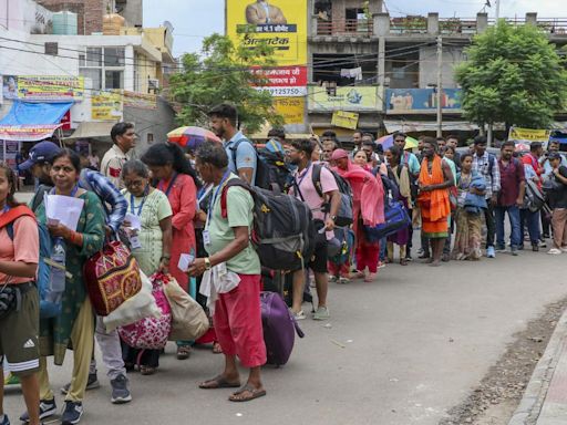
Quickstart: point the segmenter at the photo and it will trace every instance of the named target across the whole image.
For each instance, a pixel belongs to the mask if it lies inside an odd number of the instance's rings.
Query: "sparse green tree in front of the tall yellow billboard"
[[[177,114],[181,125],[206,125],[207,111],[220,103],[231,102],[238,108],[240,125],[254,133],[268,121],[284,124],[275,113],[272,97],[254,85],[266,83],[251,68],[274,66],[274,50],[266,44],[246,48],[235,45],[228,37],[213,34],[203,41],[202,54],[183,56],[183,71],[171,79],[171,94],[182,105]]]

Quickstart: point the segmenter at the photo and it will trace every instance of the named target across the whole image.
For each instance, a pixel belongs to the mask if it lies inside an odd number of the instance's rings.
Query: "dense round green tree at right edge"
[[[505,21],[475,37],[456,69],[462,105],[472,122],[547,128],[567,94],[564,60],[533,24]]]

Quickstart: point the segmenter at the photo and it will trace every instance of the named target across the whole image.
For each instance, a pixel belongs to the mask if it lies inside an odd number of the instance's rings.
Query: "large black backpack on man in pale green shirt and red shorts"
[[[316,229],[309,207],[290,195],[252,187],[239,178],[229,179],[220,197],[221,216],[227,217],[227,190],[243,187],[254,199],[252,243],[264,267],[298,270],[311,260]]]

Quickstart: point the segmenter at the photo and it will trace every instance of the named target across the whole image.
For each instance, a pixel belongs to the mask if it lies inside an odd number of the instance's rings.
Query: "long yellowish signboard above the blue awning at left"
[[[4,99],[28,102],[82,101],[84,79],[69,75],[4,75],[2,95]]]

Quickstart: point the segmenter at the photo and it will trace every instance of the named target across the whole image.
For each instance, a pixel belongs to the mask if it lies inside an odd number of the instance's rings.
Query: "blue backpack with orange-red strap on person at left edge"
[[[28,216],[35,219],[35,215],[25,206],[19,206],[10,209],[3,216],[6,217],[6,230],[11,240],[14,238],[13,221],[20,217]],[[38,277],[35,280],[38,292],[40,297],[40,318],[49,319],[61,314],[62,304],[61,302],[48,301],[50,298],[51,290],[51,266],[48,263],[51,259],[51,250],[53,241],[48,227],[41,222],[38,222],[39,240],[40,240],[40,255],[38,262]],[[48,262],[45,262],[45,259]]]

